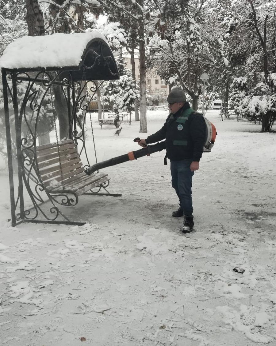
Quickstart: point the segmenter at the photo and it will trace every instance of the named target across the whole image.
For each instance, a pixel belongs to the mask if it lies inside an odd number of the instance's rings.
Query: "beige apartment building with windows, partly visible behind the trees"
[[[131,59],[130,56],[126,55],[123,57],[126,62],[127,69],[131,70]],[[138,83],[140,79],[140,64],[139,58],[135,57],[135,77]],[[152,97],[152,103],[159,106],[167,104],[166,98],[169,93],[169,86],[162,80],[160,76],[155,72],[154,69],[146,71],[146,85],[149,95]]]

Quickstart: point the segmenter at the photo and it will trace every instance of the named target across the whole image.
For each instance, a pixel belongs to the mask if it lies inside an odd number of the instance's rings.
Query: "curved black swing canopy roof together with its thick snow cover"
[[[114,55],[97,30],[18,38],[4,50],[0,67],[19,72],[65,70],[73,80],[119,79]]]

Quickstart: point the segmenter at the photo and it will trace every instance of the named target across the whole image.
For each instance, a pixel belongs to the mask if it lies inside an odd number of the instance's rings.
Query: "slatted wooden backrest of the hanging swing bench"
[[[84,170],[77,146],[71,139],[63,140],[59,145],[57,143],[40,145],[36,150],[38,173],[49,190],[62,185],[62,180],[64,184],[75,180],[76,175]]]

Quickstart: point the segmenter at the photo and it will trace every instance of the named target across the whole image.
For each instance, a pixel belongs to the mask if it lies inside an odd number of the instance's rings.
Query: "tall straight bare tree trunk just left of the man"
[[[143,0],[139,0],[143,5]],[[148,132],[147,129],[147,108],[146,108],[146,58],[145,58],[145,33],[143,17],[139,18],[139,58],[140,58],[140,133]]]

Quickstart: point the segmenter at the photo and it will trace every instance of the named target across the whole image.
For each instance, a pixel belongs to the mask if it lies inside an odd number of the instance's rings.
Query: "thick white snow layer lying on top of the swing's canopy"
[[[14,40],[4,50],[0,58],[0,67],[33,69],[79,66],[85,48],[94,38],[107,43],[98,30],[79,34],[23,36]]]

